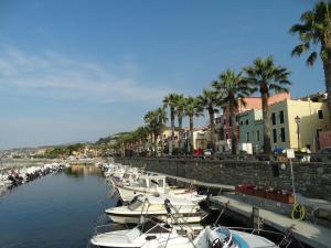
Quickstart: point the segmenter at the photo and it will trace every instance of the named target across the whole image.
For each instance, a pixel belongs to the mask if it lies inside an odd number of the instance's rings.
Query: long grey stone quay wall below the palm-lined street
[[[168,158],[116,158],[115,161],[207,183],[237,185],[253,182],[266,187],[292,188],[288,162]],[[297,193],[331,201],[331,163],[293,162],[292,165]]]

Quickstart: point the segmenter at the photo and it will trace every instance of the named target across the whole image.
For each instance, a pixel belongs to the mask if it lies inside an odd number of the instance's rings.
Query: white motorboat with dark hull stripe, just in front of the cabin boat
[[[169,203],[168,209],[166,203]],[[173,219],[171,219],[169,211],[173,214]],[[200,209],[196,203],[164,195],[138,195],[128,206],[111,207],[105,213],[114,223],[119,224],[139,224],[141,216],[152,216],[171,223],[199,223],[206,216],[206,213]]]

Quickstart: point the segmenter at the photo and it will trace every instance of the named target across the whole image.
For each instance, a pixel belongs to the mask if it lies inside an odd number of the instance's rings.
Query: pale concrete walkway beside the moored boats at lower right
[[[216,206],[224,206],[225,203],[229,201],[229,209],[247,217],[252,215],[253,206],[241,201],[226,196],[213,196],[211,201]],[[331,229],[313,225],[308,222],[295,220],[287,216],[261,208],[259,211],[259,215],[264,218],[266,225],[282,233],[291,225],[295,225],[293,237],[309,246],[317,248],[331,248]]]

